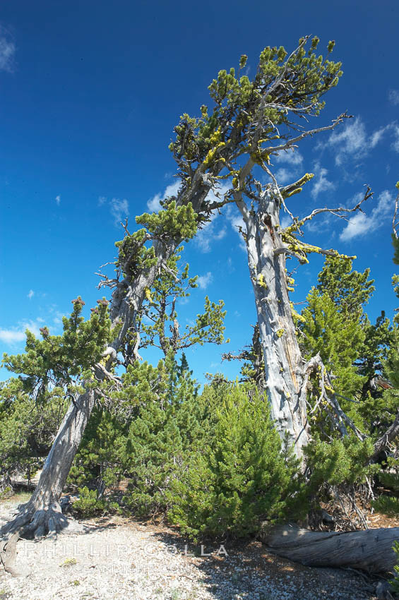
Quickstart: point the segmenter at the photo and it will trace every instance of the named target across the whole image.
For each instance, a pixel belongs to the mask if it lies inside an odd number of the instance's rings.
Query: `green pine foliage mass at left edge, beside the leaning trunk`
[[[25,354],[4,354],[2,364],[18,374],[0,389],[0,473],[3,481],[42,466],[73,396],[83,383],[96,385],[93,366],[112,335],[108,302],[97,301],[90,318],[82,316],[80,296],[63,318],[62,335],[40,329],[42,339],[26,331]]]

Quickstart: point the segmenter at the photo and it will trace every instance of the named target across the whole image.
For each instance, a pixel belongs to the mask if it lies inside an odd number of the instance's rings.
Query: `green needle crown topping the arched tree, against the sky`
[[[230,173],[222,177],[231,177],[232,185],[237,186],[239,157],[249,154],[257,164],[268,160],[263,144],[279,137],[277,126],[293,126],[289,109],[296,114],[319,114],[324,107],[322,96],[337,85],[343,71],[340,62],[330,61],[334,42],[329,42],[324,58],[316,53],[318,42],[318,37],[301,38],[298,48],[288,58],[283,47],[266,47],[259,56],[253,80],[242,75],[244,55],[237,73],[234,68],[219,71],[208,88],[213,107],[201,106],[199,118],[183,114],[174,128],[176,139],[169,149],[179,164],[184,187],[191,184],[198,164],[218,176],[225,167],[231,143],[234,143],[234,162],[229,164]],[[276,80],[279,85],[273,86]],[[266,90],[270,93],[265,97]],[[253,136],[260,112],[265,125],[256,130],[260,136]]]

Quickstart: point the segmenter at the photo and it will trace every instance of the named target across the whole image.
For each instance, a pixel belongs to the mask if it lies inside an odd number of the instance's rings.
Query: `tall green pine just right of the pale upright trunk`
[[[382,390],[371,390],[371,381],[385,375],[384,364],[393,343],[393,328],[385,313],[372,325],[364,312],[373,291],[369,269],[357,272],[350,259],[326,258],[298,329],[304,357],[320,354],[333,376],[341,407],[361,431],[376,438],[387,427],[381,415],[388,409],[391,418],[395,408],[392,402],[386,406]],[[317,378],[313,381],[312,405],[318,398]],[[320,415],[311,416],[311,421],[320,433]]]

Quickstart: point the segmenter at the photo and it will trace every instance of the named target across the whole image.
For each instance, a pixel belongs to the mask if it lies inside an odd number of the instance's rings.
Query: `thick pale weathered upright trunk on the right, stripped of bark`
[[[282,440],[288,434],[297,456],[302,459],[302,448],[308,441],[306,390],[302,385],[302,356],[288,297],[285,254],[275,255],[275,249],[283,245],[278,234],[279,202],[272,188],[267,188],[251,210],[244,203],[237,205],[246,224],[249,273],[254,287],[271,416]]]

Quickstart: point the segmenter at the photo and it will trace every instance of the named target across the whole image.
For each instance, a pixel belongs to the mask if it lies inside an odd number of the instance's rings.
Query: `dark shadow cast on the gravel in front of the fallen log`
[[[178,532],[154,527],[169,551],[201,572],[215,600],[375,599],[375,578],[342,569],[310,568],[269,553],[254,539],[193,544]],[[206,556],[210,555],[210,556]]]

